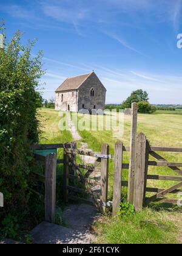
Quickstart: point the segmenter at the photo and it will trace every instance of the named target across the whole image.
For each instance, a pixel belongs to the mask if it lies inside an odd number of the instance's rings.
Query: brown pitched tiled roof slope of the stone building
[[[78,89],[83,82],[90,76],[90,74],[84,74],[81,76],[75,76],[67,78],[59,87],[56,89],[56,91],[67,91],[67,90],[75,90]]]

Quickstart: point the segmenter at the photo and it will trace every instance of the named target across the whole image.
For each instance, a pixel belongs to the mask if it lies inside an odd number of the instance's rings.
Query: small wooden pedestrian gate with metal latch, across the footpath
[[[95,157],[96,161],[93,165],[83,165],[76,163],[76,155],[86,155]],[[109,145],[103,144],[101,152],[83,151],[76,149],[76,143],[72,144],[72,148],[66,143],[64,144],[64,201],[70,200],[84,202],[86,204],[95,205],[102,212],[106,212],[107,192],[108,192],[108,169],[109,169]],[[85,171],[81,171],[85,170]],[[90,175],[94,171],[101,172],[99,180],[90,179]],[[93,190],[93,186],[98,186],[97,193]],[[90,196],[92,200],[87,197]]]

